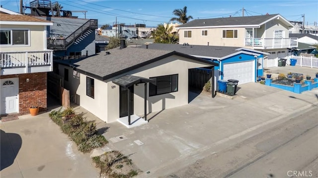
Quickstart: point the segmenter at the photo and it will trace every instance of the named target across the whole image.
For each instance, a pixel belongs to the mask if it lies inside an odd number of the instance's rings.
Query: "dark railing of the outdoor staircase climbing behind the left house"
[[[49,39],[47,40],[47,48],[51,50],[66,50],[71,46],[88,29],[97,29],[98,20],[90,19],[80,26],[75,32],[65,39]]]

